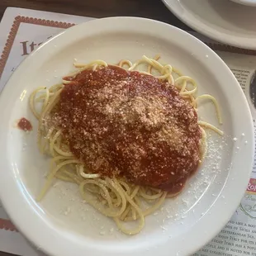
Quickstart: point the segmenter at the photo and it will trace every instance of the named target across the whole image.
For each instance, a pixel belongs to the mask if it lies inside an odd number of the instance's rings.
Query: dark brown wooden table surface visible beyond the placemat
[[[21,7],[97,18],[111,16],[147,17],[167,22],[183,30],[188,29],[182,21],[179,21],[168,11],[161,0],[0,0],[1,19],[7,7]],[[0,252],[0,256],[13,256],[13,254]]]

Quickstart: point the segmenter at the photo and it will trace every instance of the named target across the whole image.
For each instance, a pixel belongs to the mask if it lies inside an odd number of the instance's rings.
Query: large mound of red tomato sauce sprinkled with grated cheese
[[[199,164],[201,130],[173,85],[116,66],[67,79],[51,121],[92,173],[183,189]]]

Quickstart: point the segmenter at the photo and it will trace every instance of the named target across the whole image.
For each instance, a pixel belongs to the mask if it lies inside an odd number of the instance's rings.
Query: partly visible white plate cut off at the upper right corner
[[[256,50],[255,8],[230,0],[163,2],[176,17],[201,34],[227,45]]]

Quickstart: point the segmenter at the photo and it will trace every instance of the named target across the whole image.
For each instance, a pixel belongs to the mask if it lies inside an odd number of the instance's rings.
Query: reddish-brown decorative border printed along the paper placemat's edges
[[[59,28],[69,28],[70,26],[74,26],[74,23],[66,23],[61,21],[50,21],[45,19],[37,19],[34,17],[23,17],[17,16],[15,17],[11,31],[7,37],[7,42],[5,44],[4,49],[2,50],[2,55],[0,58],[0,78],[2,77],[3,69],[7,63],[7,59],[10,55],[12,50],[12,45],[17,36],[17,31],[20,27],[21,22],[34,24],[34,25],[41,25],[41,26],[52,26],[52,27],[59,27]],[[237,47],[229,46],[229,45],[220,45],[220,44],[206,44],[212,50],[220,50],[220,51],[227,51],[231,53],[237,54],[244,54],[244,55],[256,55],[256,50],[244,50]],[[10,230],[10,231],[17,231],[16,227],[12,224],[11,220],[0,219],[0,230]]]

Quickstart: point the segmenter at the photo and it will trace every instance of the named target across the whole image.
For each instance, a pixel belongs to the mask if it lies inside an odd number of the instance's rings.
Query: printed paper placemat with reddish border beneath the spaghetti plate
[[[77,17],[53,12],[7,8],[0,24],[0,52],[2,52],[0,59],[0,92],[18,64],[31,51],[60,31],[91,19],[90,17]],[[191,33],[215,50],[235,73],[249,100],[255,123],[256,110],[254,100],[251,97],[254,98],[256,82],[254,87],[251,87],[250,83],[255,75],[256,51],[222,45],[196,32]],[[33,248],[12,225],[1,204],[0,251],[26,256],[43,255],[39,250]],[[256,164],[254,164],[247,192],[234,216],[220,234],[195,255],[256,256]]]

